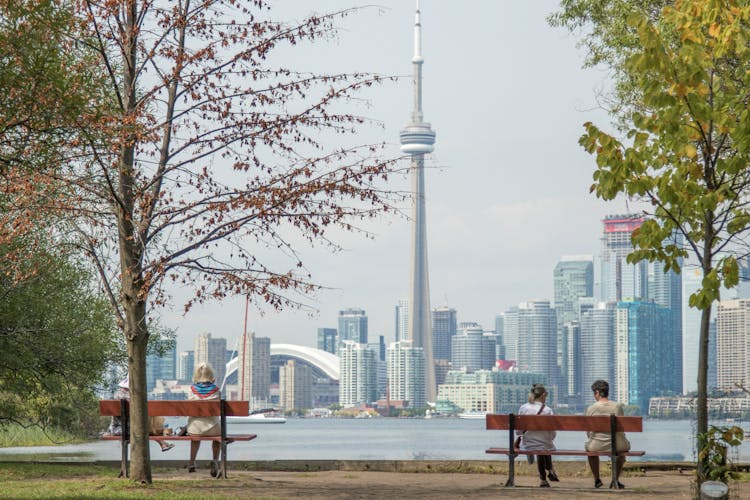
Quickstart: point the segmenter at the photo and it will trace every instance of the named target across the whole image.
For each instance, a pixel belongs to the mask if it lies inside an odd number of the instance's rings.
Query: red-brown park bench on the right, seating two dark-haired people
[[[487,430],[507,430],[507,448],[488,448],[485,453],[508,455],[508,481],[505,486],[514,486],[515,458],[518,455],[563,455],[586,457],[610,457],[612,461],[612,482],[610,488],[617,488],[617,467],[615,461],[618,456],[641,457],[645,451],[617,451],[615,434],[617,432],[643,432],[642,417],[623,417],[617,415],[492,415],[488,414]],[[513,443],[515,431],[583,431],[609,433],[612,451],[586,450],[518,450]],[[582,440],[583,441],[583,440]]]

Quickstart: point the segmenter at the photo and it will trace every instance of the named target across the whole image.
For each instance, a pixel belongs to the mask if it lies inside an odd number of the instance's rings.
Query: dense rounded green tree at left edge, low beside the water
[[[38,249],[26,277],[13,279],[4,272],[12,246],[0,245],[0,426],[91,433],[98,416],[86,409],[120,352],[109,304],[71,255]]]

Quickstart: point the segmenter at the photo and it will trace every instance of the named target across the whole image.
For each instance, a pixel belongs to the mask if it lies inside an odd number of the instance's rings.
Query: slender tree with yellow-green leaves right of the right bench
[[[585,2],[572,2],[582,4]],[[613,2],[608,2],[612,4]],[[708,432],[708,330],[721,287],[738,282],[737,259],[748,255],[750,230],[750,52],[745,0],[628,2],[628,33],[635,34],[617,66],[630,89],[620,108],[625,139],[587,123],[581,144],[596,156],[592,192],[611,200],[643,199],[651,216],[633,233],[629,262],[644,259],[680,271],[692,255],[703,271],[690,306],[701,309],[698,360],[698,448]],[[581,18],[583,19],[583,18]],[[598,27],[622,23],[599,19]],[[600,39],[604,41],[604,38]],[[617,50],[617,48],[615,48]],[[621,94],[622,96],[623,94]],[[679,233],[685,245],[679,245]],[[709,464],[698,461],[699,481]]]

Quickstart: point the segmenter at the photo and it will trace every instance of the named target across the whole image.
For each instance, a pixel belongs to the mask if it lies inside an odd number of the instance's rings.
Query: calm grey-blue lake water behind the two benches
[[[747,423],[738,424],[746,429]],[[645,450],[643,460],[692,461],[694,424],[689,420],[644,420],[643,433],[628,434],[632,448]],[[231,460],[492,460],[484,450],[506,447],[505,431],[488,431],[484,419],[289,419],[285,424],[232,427],[230,432],[255,433],[250,442],[230,445]],[[558,432],[558,448],[581,449],[582,432]],[[151,456],[159,459],[187,457],[188,443],[178,442],[172,451]],[[54,460],[119,460],[119,446],[112,441],[81,445],[0,449],[3,455],[51,455]],[[210,456],[210,446],[201,446],[199,459]],[[563,457],[556,458],[564,459]],[[572,457],[580,459],[580,457]],[[750,441],[739,450],[739,460],[750,462]]]

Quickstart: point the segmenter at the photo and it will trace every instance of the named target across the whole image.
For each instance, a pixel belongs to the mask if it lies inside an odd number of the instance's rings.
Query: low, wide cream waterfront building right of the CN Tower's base
[[[436,407],[438,411],[453,406],[464,412],[517,413],[528,402],[529,388],[537,383],[547,385],[547,378],[540,373],[451,370],[438,387]]]

